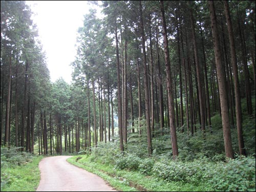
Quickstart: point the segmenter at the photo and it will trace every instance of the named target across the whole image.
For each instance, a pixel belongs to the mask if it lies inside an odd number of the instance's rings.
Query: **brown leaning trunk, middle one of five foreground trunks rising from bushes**
[[[165,68],[166,68],[167,91],[168,91],[170,136],[172,139],[173,158],[176,159],[176,157],[178,156],[178,144],[177,144],[176,127],[174,125],[175,115],[174,115],[174,102],[173,102],[173,85],[172,85],[172,78],[170,74],[169,48],[168,48],[168,38],[167,38],[163,1],[160,1],[160,8],[161,8],[161,17],[162,17],[162,24],[163,24],[164,57],[165,57]]]

